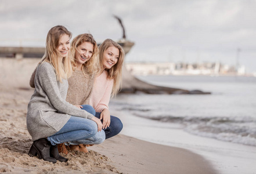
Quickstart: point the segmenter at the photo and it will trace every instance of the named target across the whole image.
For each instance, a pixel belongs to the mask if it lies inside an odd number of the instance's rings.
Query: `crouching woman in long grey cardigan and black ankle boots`
[[[35,73],[35,91],[28,103],[27,129],[33,144],[30,156],[55,163],[66,162],[60,156],[57,144],[88,140],[102,143],[105,133],[102,122],[95,117],[91,107],[81,110],[66,102],[68,82],[72,66],[68,52],[71,32],[63,26],[55,26],[48,32],[46,51]]]

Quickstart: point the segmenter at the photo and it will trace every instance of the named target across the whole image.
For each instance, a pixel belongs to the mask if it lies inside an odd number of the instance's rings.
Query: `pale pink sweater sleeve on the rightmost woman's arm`
[[[111,79],[110,82],[107,84],[107,88],[104,92],[104,95],[102,96],[102,99],[100,99],[100,102],[98,106],[95,108],[96,111],[102,112],[105,108],[109,109],[109,100],[113,88],[114,80]]]

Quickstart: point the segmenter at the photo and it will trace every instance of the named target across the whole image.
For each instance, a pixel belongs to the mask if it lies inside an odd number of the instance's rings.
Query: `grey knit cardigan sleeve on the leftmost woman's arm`
[[[51,64],[42,63],[38,66],[37,74],[35,76],[37,75],[42,89],[44,89],[50,102],[57,111],[76,117],[92,119],[92,114],[73,106],[73,104],[66,102],[66,100],[62,98],[57,85],[55,70]]]

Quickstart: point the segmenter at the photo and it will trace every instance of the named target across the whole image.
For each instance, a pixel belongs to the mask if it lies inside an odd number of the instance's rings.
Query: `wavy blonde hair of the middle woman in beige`
[[[71,54],[71,64],[73,66],[73,69],[75,69],[77,67],[77,64],[75,63],[76,61],[75,51],[78,51],[77,47],[84,42],[89,42],[93,45],[92,57],[88,61],[85,61],[84,64],[82,64],[83,66],[82,73],[84,73],[86,77],[86,75],[88,74],[95,74],[99,71],[99,59],[98,59],[99,49],[95,39],[92,37],[91,34],[87,34],[87,33],[78,35],[72,41],[70,54]]]

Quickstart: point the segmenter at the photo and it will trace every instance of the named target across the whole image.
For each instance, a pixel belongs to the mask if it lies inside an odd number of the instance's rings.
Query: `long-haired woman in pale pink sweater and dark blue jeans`
[[[95,108],[96,115],[102,120],[106,139],[117,135],[122,130],[119,118],[110,115],[109,100],[121,88],[122,63],[124,50],[111,39],[106,39],[99,46],[99,73],[96,74],[89,105]],[[85,108],[85,107],[84,107]]]

